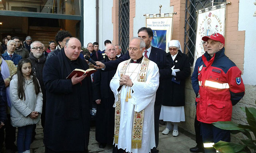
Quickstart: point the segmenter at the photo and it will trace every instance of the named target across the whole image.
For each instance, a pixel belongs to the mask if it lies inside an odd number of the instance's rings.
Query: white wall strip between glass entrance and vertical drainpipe
[[[96,41],[96,9],[95,0],[84,0],[84,46]]]

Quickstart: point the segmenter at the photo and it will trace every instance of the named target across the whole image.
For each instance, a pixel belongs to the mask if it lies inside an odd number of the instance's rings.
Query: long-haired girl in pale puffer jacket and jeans
[[[33,125],[42,113],[43,95],[31,69],[31,61],[21,59],[10,82],[11,124],[18,127],[18,153],[30,153]]]

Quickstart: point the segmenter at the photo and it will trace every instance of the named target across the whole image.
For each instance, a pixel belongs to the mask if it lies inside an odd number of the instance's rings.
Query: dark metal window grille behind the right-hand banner
[[[214,5],[221,4],[226,0],[214,0]],[[211,6],[212,0],[186,0],[185,3],[185,38],[184,52],[188,52],[189,62],[193,65],[196,48],[196,11]]]

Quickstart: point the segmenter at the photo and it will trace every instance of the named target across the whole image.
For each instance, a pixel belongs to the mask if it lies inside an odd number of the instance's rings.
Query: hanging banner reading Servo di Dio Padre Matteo
[[[153,31],[153,47],[169,52],[167,45],[172,39],[172,23],[173,13],[146,15],[146,27]]]

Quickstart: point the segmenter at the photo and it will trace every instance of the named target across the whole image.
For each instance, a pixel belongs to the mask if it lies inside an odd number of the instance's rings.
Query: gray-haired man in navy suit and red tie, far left
[[[15,49],[16,49],[16,42],[14,40],[9,40],[7,43],[7,52],[2,54],[2,56],[4,60],[11,60],[17,66],[19,63],[19,60],[22,59],[22,57],[14,52]]]

